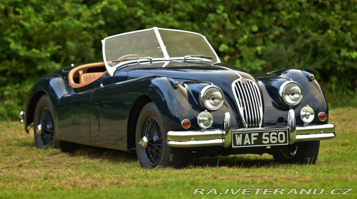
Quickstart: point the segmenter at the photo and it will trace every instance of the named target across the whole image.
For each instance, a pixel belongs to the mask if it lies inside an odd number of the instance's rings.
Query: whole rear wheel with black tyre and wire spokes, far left
[[[37,102],[34,115],[34,137],[37,148],[58,148],[56,141],[54,112],[51,99],[47,95],[41,96]]]

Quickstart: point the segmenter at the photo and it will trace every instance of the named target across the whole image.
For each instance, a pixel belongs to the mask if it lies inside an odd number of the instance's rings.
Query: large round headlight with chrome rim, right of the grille
[[[297,105],[302,98],[302,89],[297,82],[284,82],[279,89],[280,96],[288,105]]]

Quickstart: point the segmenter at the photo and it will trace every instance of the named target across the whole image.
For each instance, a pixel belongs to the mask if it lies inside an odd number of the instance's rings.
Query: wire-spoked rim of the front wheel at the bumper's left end
[[[162,156],[163,139],[159,123],[154,117],[149,117],[142,128],[141,137],[146,136],[148,143],[142,147],[144,158],[151,167],[156,167]]]

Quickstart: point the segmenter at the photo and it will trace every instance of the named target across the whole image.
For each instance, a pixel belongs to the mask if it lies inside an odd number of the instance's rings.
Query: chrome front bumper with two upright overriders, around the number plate
[[[167,144],[172,147],[224,146],[228,148],[232,143],[232,133],[267,132],[275,128],[232,129],[231,115],[225,113],[224,130],[212,129],[205,131],[170,131],[167,133]],[[297,127],[294,110],[288,114],[285,127],[289,131],[289,144],[301,141],[332,139],[335,137],[333,124],[308,125]]]

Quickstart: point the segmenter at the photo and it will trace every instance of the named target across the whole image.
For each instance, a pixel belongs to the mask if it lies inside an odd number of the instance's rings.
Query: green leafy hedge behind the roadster
[[[329,102],[357,101],[357,0],[0,0],[0,120],[40,77],[101,61],[101,39],[154,26],[199,32],[253,74],[312,72]]]

